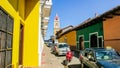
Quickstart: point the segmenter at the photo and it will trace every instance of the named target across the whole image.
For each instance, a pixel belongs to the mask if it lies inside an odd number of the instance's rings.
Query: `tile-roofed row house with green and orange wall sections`
[[[120,51],[120,6],[76,26],[77,49],[111,46]]]

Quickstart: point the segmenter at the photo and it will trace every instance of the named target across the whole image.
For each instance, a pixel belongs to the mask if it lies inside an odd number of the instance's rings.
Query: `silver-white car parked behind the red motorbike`
[[[70,51],[68,44],[66,43],[58,43],[56,46],[56,54],[57,55],[66,55],[66,53]]]

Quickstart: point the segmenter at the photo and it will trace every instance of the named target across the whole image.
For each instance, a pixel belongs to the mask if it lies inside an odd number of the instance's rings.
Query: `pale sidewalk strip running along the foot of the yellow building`
[[[64,68],[64,66],[58,62],[58,59],[53,54],[51,54],[50,49],[51,48],[44,45],[41,68]]]

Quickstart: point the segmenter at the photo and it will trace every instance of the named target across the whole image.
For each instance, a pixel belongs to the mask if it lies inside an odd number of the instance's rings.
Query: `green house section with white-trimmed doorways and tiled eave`
[[[103,47],[103,23],[101,20],[84,22],[76,29],[77,49]]]

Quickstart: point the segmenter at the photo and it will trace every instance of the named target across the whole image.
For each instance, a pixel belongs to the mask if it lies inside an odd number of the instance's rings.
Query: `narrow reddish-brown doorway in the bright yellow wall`
[[[23,64],[23,34],[24,34],[24,27],[20,25],[20,45],[19,45],[19,65]]]

